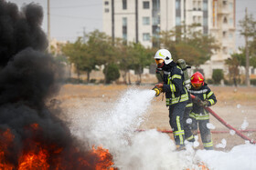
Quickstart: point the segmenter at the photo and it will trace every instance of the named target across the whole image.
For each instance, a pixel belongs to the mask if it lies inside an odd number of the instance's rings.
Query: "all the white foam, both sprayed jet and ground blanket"
[[[181,170],[200,169],[198,164],[205,163],[209,169],[256,169],[256,145],[233,147],[229,152],[194,150],[196,142],[186,146],[186,150],[176,152],[174,141],[166,134],[155,129],[134,132],[144,121],[144,114],[150,108],[155,92],[152,90],[129,89],[113,105],[112,109],[96,109],[95,116],[86,119],[80,112],[73,114],[72,133],[84,138],[91,144],[103,145],[110,149],[115,165],[123,170]],[[99,110],[100,109],[100,110]],[[100,113],[99,113],[100,112]],[[93,113],[91,113],[93,115]],[[84,118],[84,119],[81,119]],[[167,118],[167,115],[166,115]],[[211,125],[209,125],[211,126]],[[232,134],[232,131],[230,131]],[[225,139],[215,147],[225,148]]]

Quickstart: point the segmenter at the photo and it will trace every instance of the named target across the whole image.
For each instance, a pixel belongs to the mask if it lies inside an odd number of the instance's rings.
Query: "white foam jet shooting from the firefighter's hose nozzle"
[[[112,110],[95,118],[91,125],[91,142],[107,148],[128,145],[131,135],[144,121],[143,115],[154,97],[153,90],[128,89]]]

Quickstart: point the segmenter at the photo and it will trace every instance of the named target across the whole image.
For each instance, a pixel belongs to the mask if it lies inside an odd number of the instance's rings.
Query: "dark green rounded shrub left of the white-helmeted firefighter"
[[[112,81],[117,80],[120,77],[118,66],[114,64],[108,65],[107,69],[105,67],[103,74],[105,75],[107,84],[110,84]]]

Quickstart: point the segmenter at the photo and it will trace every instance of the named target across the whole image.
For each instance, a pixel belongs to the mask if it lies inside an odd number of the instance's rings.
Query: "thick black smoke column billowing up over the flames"
[[[48,149],[49,169],[94,169],[80,160],[97,160],[81,150],[68,126],[46,105],[59,91],[61,71],[46,53],[42,21],[41,6],[24,5],[19,11],[15,4],[0,0],[0,153],[5,153],[0,165],[17,169],[21,155],[40,147]],[[13,140],[6,137],[8,130]]]

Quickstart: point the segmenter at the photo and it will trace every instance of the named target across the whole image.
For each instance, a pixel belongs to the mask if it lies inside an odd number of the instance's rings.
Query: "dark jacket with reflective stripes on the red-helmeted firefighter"
[[[215,105],[217,103],[216,96],[209,89],[208,85],[204,83],[200,89],[195,89],[193,86],[188,90],[191,95],[197,96],[202,101],[208,100],[208,106]],[[209,119],[208,111],[204,107],[200,106],[197,102],[193,101],[193,109],[189,114],[190,117],[194,117],[197,120]]]

